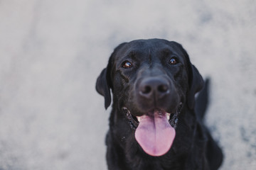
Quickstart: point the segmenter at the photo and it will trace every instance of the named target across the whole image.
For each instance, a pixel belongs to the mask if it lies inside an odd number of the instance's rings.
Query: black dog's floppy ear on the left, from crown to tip
[[[112,55],[110,56],[109,62],[107,64],[107,67],[102,70],[100,73],[100,76],[97,78],[96,81],[96,90],[99,94],[104,96],[105,98],[105,108],[107,109],[110,106],[111,103],[111,94],[110,89],[113,89],[112,86],[112,78],[111,78],[111,70],[112,70],[112,61],[114,60],[114,55],[117,54],[117,51],[125,44],[122,43],[119,46],[117,46],[114,49],[114,52],[112,52]]]

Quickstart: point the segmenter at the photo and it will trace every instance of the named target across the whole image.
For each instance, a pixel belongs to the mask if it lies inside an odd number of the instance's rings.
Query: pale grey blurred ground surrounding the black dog
[[[254,0],[0,0],[0,169],[107,169],[95,81],[114,47],[141,38],[183,45],[211,79],[221,169],[255,169]]]

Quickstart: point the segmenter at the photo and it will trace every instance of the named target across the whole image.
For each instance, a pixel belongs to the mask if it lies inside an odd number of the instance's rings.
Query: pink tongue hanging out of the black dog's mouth
[[[171,148],[175,130],[169,124],[165,114],[154,112],[153,115],[142,115],[135,139],[147,154],[159,157]]]

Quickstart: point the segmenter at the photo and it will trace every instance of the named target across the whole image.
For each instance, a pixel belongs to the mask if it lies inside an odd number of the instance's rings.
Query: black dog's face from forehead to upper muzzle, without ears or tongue
[[[185,65],[182,52],[171,45],[129,42],[115,55],[112,67],[113,94],[122,101],[119,106],[134,116],[154,110],[175,113],[188,89]]]

